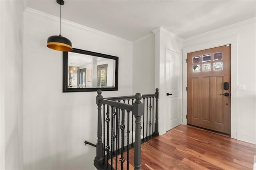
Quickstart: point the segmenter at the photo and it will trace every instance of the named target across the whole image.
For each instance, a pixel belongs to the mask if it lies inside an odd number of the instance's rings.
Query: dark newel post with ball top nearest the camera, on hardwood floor
[[[135,94],[136,101],[133,104],[132,113],[135,116],[135,143],[134,143],[134,170],[140,170],[141,149],[140,149],[140,119],[143,115],[144,104],[141,102],[142,94]]]

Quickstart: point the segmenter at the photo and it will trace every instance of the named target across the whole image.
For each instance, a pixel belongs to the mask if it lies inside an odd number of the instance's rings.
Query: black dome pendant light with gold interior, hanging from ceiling
[[[60,6],[64,5],[63,0],[56,0],[56,2],[60,4]],[[61,33],[59,35],[50,36],[47,39],[47,47],[49,47],[50,49],[58,50],[58,51],[72,51],[71,41],[66,37],[62,37]]]

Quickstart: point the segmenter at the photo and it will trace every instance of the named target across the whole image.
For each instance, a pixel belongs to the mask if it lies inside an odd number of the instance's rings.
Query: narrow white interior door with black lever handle
[[[181,124],[181,55],[166,49],[166,131]]]

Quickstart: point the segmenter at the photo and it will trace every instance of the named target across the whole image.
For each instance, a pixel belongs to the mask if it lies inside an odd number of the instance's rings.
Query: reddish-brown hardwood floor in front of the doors
[[[142,170],[250,170],[256,155],[256,145],[185,125],[143,143],[141,150]],[[129,169],[133,154],[132,149]]]

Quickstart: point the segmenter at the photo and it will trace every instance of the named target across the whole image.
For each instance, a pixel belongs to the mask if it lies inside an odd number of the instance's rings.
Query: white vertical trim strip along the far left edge
[[[0,169],[5,169],[5,1],[0,1]]]

